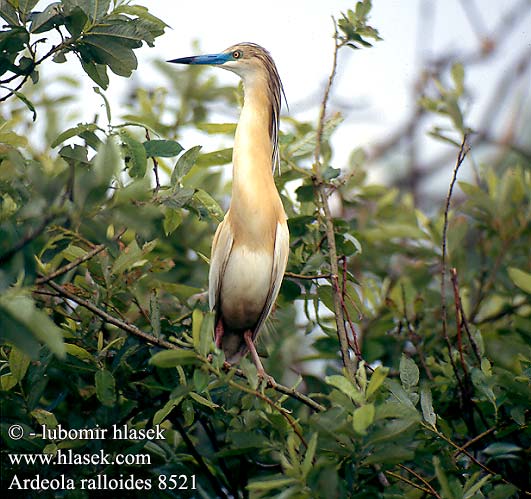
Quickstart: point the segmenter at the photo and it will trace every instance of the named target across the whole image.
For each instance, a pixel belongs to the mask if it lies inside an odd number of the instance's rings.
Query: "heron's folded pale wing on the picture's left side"
[[[212,252],[210,256],[210,270],[208,273],[208,303],[210,310],[219,309],[219,294],[221,291],[221,280],[225,273],[225,267],[229,260],[234,238],[228,221],[228,212],[223,221],[218,225],[214,240],[212,241]]]

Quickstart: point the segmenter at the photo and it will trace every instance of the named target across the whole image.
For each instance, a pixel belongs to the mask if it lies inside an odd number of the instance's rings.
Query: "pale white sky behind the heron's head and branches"
[[[469,0],[373,0],[370,24],[376,27],[383,41],[374,47],[340,52],[336,84],[329,112],[335,105],[346,107],[346,122],[339,128],[333,141],[335,167],[346,164],[356,147],[370,145],[385,139],[407,119],[414,108],[412,84],[418,76],[422,61],[436,54],[455,51],[461,53],[478,46],[478,38],[463,10]],[[49,2],[45,2],[46,4]],[[160,17],[172,29],[159,37],[155,48],[142,47],[136,51],[138,70],[133,73],[136,83],[156,87],[158,73],[152,71],[153,59],[173,59],[195,55],[192,42],[198,40],[203,53],[219,52],[241,41],[252,41],[268,49],[279,69],[290,114],[298,119],[316,119],[322,91],[330,72],[333,51],[331,16],[340,17],[341,11],[354,8],[354,0],[270,0],[250,1],[187,1],[139,0],[150,12]],[[518,0],[475,0],[480,9],[479,22],[491,31],[504,13]],[[431,26],[419,17],[419,7],[433,8]],[[528,10],[531,11],[531,1]],[[495,58],[485,67],[466,74],[466,86],[474,100],[469,102],[469,123],[474,127],[490,98],[492,87],[507,61],[522,47],[531,46],[531,15],[518,24],[517,33],[504,40]],[[70,59],[73,59],[70,57]],[[57,71],[75,71],[79,65],[55,66]],[[67,69],[68,67],[68,69]],[[70,69],[72,68],[72,69]],[[54,68],[55,71],[55,68]],[[236,85],[238,80],[229,72],[212,68],[219,80]],[[101,100],[92,96],[93,83],[85,80],[85,95],[94,106]],[[527,74],[527,85],[529,83]],[[162,84],[162,79],[160,84]],[[111,78],[107,91],[118,116],[122,96],[127,93],[129,80]],[[529,97],[529,96],[528,96]],[[529,104],[529,100],[528,100]],[[86,106],[85,119],[91,119],[94,106]],[[223,121],[223,117],[218,117]],[[503,126],[503,125],[502,125]],[[282,127],[282,125],[281,125]],[[429,158],[440,150],[437,142],[428,139],[419,156]],[[194,144],[183,143],[186,147]],[[227,146],[230,144],[227,144]],[[449,165],[449,172],[451,167]],[[389,168],[385,165],[385,168]],[[385,176],[385,171],[380,171]],[[448,176],[449,179],[449,176]]]

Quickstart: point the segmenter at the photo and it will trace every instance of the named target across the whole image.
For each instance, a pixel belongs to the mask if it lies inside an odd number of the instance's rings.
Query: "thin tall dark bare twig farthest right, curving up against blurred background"
[[[450,211],[450,201],[452,199],[452,192],[454,189],[455,182],[457,180],[457,173],[459,172],[460,166],[465,160],[466,154],[469,151],[467,144],[467,134],[463,135],[463,141],[461,142],[461,147],[459,148],[459,153],[457,154],[457,161],[455,163],[454,171],[452,174],[452,180],[450,182],[450,187],[448,188],[448,195],[446,196],[446,204],[444,207],[444,224],[443,224],[443,233],[442,233],[442,257],[441,257],[441,315],[442,315],[442,331],[443,336],[448,347],[448,356],[450,357],[450,363],[452,364],[452,369],[454,371],[455,377],[459,384],[461,400],[464,402],[465,396],[465,386],[463,385],[463,380],[459,375],[457,366],[455,365],[454,359],[452,357],[452,344],[450,338],[448,337],[448,318],[446,314],[446,234],[448,231],[448,215]]]

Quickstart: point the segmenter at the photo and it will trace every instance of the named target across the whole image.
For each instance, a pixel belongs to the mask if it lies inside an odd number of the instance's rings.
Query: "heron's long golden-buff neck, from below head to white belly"
[[[234,137],[231,219],[241,237],[272,244],[283,208],[273,180],[266,78],[245,82],[244,94]]]

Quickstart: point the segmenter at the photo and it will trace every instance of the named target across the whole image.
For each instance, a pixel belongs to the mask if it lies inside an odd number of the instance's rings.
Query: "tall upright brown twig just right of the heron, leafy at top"
[[[317,122],[317,140],[314,150],[314,164],[313,164],[313,184],[319,192],[319,204],[324,213],[324,222],[326,226],[326,240],[328,242],[328,251],[330,253],[330,270],[331,280],[333,284],[333,297],[334,297],[334,313],[337,326],[337,336],[339,339],[339,346],[341,349],[341,357],[343,359],[343,365],[347,371],[347,375],[354,379],[354,373],[356,366],[354,360],[350,357],[350,348],[348,341],[347,329],[345,326],[345,316],[343,314],[343,306],[341,300],[341,289],[339,286],[339,269],[337,263],[337,249],[335,241],[334,222],[330,211],[330,205],[328,204],[328,196],[323,183],[323,176],[321,174],[321,145],[323,142],[323,130],[326,116],[326,106],[330,96],[330,89],[334,82],[334,78],[337,70],[337,53],[343,46],[343,43],[339,40],[337,31],[337,24],[334,20],[334,54],[332,60],[332,70],[328,77],[328,82],[325,87],[323,100],[321,102],[321,109],[319,112],[319,120]]]

